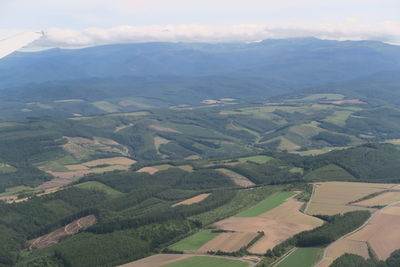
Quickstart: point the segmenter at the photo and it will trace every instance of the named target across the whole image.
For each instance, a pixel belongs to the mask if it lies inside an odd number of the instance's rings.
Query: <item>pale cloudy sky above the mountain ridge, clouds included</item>
[[[0,39],[31,47],[111,43],[254,42],[317,37],[400,44],[400,0],[0,0]]]

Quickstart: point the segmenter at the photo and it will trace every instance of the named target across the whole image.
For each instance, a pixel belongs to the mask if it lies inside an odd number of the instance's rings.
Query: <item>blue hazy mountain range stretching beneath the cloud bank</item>
[[[0,101],[14,108],[135,97],[139,104],[128,109],[137,110],[210,98],[254,101],[304,89],[393,101],[399,72],[400,47],[376,41],[119,44],[14,53],[0,60]]]

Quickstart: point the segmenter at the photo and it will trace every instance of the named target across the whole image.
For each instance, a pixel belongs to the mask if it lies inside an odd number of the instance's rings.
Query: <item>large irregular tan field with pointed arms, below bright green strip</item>
[[[224,230],[243,233],[264,231],[265,235],[249,251],[265,253],[279,243],[305,230],[322,225],[322,220],[299,211],[303,202],[290,198],[280,206],[258,217],[230,217],[215,223]]]

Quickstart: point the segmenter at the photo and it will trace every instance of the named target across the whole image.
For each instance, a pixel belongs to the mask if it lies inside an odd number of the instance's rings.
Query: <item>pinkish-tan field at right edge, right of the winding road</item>
[[[400,248],[400,204],[380,211],[360,231],[347,237],[367,241],[381,260]]]

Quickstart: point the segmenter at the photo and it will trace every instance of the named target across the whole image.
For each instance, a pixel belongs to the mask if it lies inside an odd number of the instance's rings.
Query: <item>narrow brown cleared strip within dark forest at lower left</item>
[[[82,217],[72,223],[67,224],[64,227],[58,228],[57,230],[40,236],[38,238],[28,241],[29,248],[46,248],[57,244],[61,238],[68,235],[74,235],[79,230],[87,228],[97,223],[97,219],[94,215]]]

